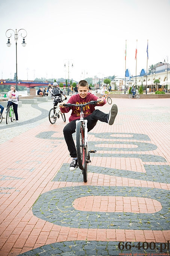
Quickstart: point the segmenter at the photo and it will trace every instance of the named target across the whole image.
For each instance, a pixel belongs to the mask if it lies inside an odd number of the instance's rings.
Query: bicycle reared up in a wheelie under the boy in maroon
[[[89,101],[85,104],[63,104],[64,107],[80,107],[80,119],[76,120],[76,151],[78,158],[78,167],[82,170],[83,180],[87,182],[87,168],[90,160],[90,153],[95,153],[96,150],[88,150],[88,129],[87,120],[84,119],[83,108],[86,105],[95,105],[100,101]]]

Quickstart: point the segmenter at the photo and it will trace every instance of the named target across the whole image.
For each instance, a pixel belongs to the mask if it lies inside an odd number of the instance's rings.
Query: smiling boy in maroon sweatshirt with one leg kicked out
[[[78,94],[72,95],[67,103],[71,104],[84,104],[89,101],[97,101],[99,98],[92,93],[89,93],[89,85],[85,80],[81,80],[78,83]],[[72,157],[72,162],[70,164],[70,171],[74,171],[78,166],[76,146],[73,140],[72,134],[76,131],[76,120],[80,118],[80,108],[79,107],[64,107],[64,103],[60,104],[60,110],[62,113],[68,113],[72,110],[71,116],[69,117],[69,123],[64,127],[63,134],[66,141],[70,156]],[[103,106],[106,104],[106,99],[99,99],[97,106]],[[87,105],[84,111],[84,119],[88,120],[87,127],[88,132],[91,131],[96,125],[97,121],[108,123],[112,125],[114,123],[115,117],[118,113],[118,107],[113,104],[109,114],[105,114],[100,110],[95,110],[96,105]]]

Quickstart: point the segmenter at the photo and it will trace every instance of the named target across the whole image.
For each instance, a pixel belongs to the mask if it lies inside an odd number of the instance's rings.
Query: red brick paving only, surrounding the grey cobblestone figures
[[[131,142],[130,134],[117,135],[118,139],[102,139],[89,135],[89,141],[100,141],[100,147],[116,147],[116,151],[98,151],[98,153],[152,154],[160,155],[166,162],[142,162],[139,158],[91,157],[91,165],[103,168],[115,168],[126,171],[146,173],[144,165],[170,165],[170,104],[169,99],[114,99],[118,105],[118,116],[113,126],[97,123],[95,133],[137,133],[147,134],[158,148],[154,151],[127,151],[136,145],[119,144]],[[108,112],[106,104],[103,111]],[[134,112],[134,113],[133,113]],[[161,113],[159,120],[157,114]],[[166,115],[167,114],[167,115]],[[66,114],[68,120],[69,114]],[[169,120],[169,121],[168,121]],[[67,121],[68,122],[68,121]],[[69,152],[64,140],[49,140],[36,137],[41,132],[54,131],[53,137],[63,138],[62,120],[51,125],[48,119],[21,135],[1,144],[0,175],[8,177],[0,180],[0,256],[17,256],[45,244],[71,240],[91,241],[154,241],[170,240],[170,230],[128,230],[128,229],[76,229],[61,227],[33,215],[31,207],[40,194],[49,190],[70,186],[131,186],[153,187],[170,190],[170,184],[155,181],[135,180],[130,177],[117,177],[106,174],[88,173],[87,183],[52,181],[63,163],[70,163]],[[107,144],[112,141],[113,144]],[[117,142],[117,144],[116,144]],[[15,147],[17,150],[10,151]],[[124,148],[124,151],[119,151]],[[3,176],[3,177],[4,177]],[[15,177],[15,178],[9,178]],[[19,179],[18,179],[19,178]],[[3,189],[5,188],[5,189]],[[74,201],[74,207],[85,211],[154,213],[162,206],[157,200],[141,197],[84,197]]]

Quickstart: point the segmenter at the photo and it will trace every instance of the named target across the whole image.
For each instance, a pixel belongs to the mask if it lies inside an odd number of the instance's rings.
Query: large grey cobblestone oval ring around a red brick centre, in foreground
[[[156,213],[91,212],[73,207],[73,201],[87,196],[147,197],[158,200]],[[169,230],[170,195],[168,190],[145,187],[73,186],[43,193],[33,205],[37,218],[59,226],[81,229]]]

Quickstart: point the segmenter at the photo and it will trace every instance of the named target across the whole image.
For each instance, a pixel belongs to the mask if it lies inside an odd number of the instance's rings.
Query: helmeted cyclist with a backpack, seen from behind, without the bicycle
[[[67,99],[66,94],[63,91],[61,91],[57,82],[54,82],[53,88],[50,91],[50,96],[52,98],[54,107],[57,107],[58,103],[63,102],[61,94],[65,96],[65,99]]]

